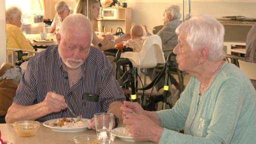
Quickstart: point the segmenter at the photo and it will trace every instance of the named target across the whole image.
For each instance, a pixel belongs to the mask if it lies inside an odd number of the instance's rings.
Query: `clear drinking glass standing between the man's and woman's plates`
[[[95,113],[94,124],[97,136],[101,139],[101,143],[110,143],[110,135],[113,127],[113,113]]]

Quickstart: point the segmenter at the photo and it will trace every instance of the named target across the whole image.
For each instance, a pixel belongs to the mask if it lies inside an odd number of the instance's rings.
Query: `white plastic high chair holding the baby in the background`
[[[128,58],[133,67],[137,68],[138,75],[140,75],[141,68],[153,68],[157,65],[157,63],[165,63],[165,58],[162,52],[161,38],[156,34],[152,34],[147,37],[140,52],[128,51],[121,53],[120,57]],[[145,81],[146,76],[144,76],[144,85]]]

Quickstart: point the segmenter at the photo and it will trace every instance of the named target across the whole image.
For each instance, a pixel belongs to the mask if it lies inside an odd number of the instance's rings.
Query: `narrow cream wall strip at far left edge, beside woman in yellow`
[[[0,65],[6,62],[5,1],[0,0]]]

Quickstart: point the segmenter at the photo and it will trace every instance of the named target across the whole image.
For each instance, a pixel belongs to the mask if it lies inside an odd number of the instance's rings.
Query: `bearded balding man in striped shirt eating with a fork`
[[[7,123],[74,117],[67,105],[83,118],[111,112],[122,120],[120,106],[126,98],[109,60],[90,46],[92,35],[86,16],[70,14],[63,20],[56,34],[58,45],[29,59],[5,116]]]

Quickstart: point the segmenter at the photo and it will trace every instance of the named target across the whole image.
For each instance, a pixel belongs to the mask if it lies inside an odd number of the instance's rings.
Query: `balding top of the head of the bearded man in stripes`
[[[91,35],[90,41],[92,40],[93,33],[91,22],[81,13],[68,15],[61,23],[59,33],[61,34],[61,37],[65,37],[70,31],[75,31],[77,29],[84,31],[84,33],[89,33]]]

